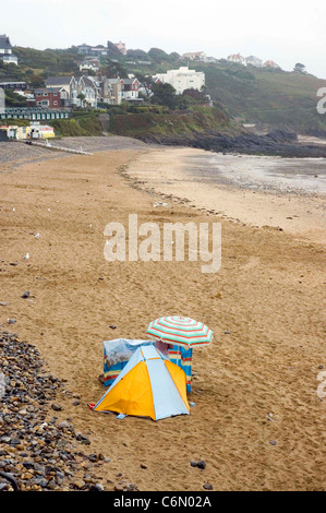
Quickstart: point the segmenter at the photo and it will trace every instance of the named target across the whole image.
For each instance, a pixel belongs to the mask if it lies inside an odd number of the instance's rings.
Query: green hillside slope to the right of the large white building
[[[326,116],[316,110],[318,88],[326,81],[300,72],[243,68],[239,64],[193,65],[206,75],[207,93],[247,123],[304,132],[326,130]]]

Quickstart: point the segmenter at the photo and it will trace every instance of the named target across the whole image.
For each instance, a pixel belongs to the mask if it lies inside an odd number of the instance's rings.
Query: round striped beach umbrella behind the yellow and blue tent
[[[202,322],[186,317],[162,317],[149,322],[146,333],[167,344],[186,348],[210,344],[213,331]]]

